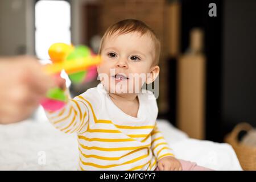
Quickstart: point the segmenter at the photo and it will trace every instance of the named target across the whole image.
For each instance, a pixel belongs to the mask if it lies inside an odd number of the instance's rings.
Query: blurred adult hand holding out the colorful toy
[[[52,77],[34,57],[0,57],[0,123],[29,117],[52,86]]]

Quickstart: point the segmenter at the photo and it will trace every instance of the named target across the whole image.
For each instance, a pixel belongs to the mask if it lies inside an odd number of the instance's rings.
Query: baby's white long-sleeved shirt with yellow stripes
[[[148,90],[139,93],[138,115],[132,117],[98,84],[46,114],[56,129],[77,133],[80,170],[154,170],[157,160],[174,154],[157,129],[152,97]]]

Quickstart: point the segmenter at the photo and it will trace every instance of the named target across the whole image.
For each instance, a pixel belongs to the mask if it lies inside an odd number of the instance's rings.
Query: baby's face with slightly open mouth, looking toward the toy
[[[105,39],[101,50],[102,63],[97,71],[105,89],[111,93],[138,93],[155,56],[150,36],[138,32],[114,34]]]

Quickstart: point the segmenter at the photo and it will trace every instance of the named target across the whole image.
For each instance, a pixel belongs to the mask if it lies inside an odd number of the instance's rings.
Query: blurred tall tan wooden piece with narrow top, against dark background
[[[203,31],[191,31],[191,44],[177,61],[177,127],[191,138],[204,139],[205,56]]]

